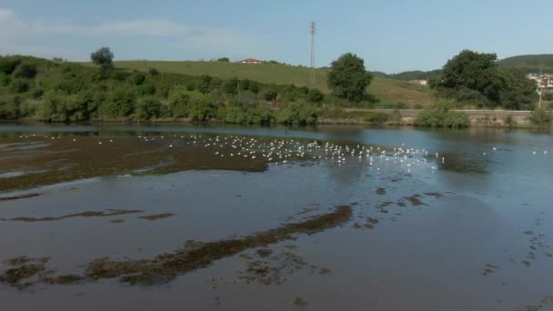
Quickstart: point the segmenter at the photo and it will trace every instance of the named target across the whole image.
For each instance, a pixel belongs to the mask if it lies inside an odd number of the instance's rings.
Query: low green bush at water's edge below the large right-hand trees
[[[437,103],[422,111],[415,119],[415,125],[424,127],[463,128],[470,125],[468,116],[449,110],[447,103]]]

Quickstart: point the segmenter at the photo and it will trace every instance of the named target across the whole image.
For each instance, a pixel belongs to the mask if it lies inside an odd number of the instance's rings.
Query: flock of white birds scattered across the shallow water
[[[20,135],[22,138],[34,136],[36,135]],[[44,137],[47,139],[60,138],[48,135]],[[258,139],[245,135],[138,135],[137,138],[144,142],[166,141],[166,147],[169,148],[183,144],[194,145],[208,148],[215,156],[262,159],[276,164],[286,164],[290,160],[325,160],[338,166],[345,165],[349,161],[363,161],[369,166],[375,166],[375,163],[389,162],[406,168],[407,173],[410,173],[412,167],[428,166],[430,159],[434,163],[434,165],[430,164],[432,170],[437,169],[437,163],[444,164],[446,161],[446,157],[438,153],[430,153],[427,149],[406,147],[405,144],[402,144],[401,147],[384,148],[372,145],[306,142],[306,140],[293,138]],[[73,142],[76,141],[77,138],[73,138]],[[97,143],[98,145],[113,144],[116,141],[114,138],[106,138],[98,140]],[[491,151],[498,151],[498,148],[492,147]],[[538,152],[532,151],[532,155],[538,155]],[[543,151],[543,155],[548,155],[548,151]],[[488,156],[488,154],[484,152],[482,156]],[[377,171],[379,170],[380,168],[377,167]]]

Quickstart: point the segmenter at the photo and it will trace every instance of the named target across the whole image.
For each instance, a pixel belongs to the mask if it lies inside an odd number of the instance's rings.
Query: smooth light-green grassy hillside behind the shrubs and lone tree
[[[261,83],[307,86],[309,68],[282,64],[239,64],[191,61],[118,61],[116,67],[147,71],[156,68],[161,73],[212,75],[220,78],[247,78]],[[316,69],[316,87],[328,94],[328,69]],[[367,92],[377,97],[381,105],[403,104],[426,106],[435,101],[434,92],[427,86],[412,85],[389,78],[375,77]]]

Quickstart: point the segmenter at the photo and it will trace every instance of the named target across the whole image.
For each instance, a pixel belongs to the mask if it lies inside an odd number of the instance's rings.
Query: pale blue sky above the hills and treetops
[[[352,52],[371,71],[440,68],[463,49],[553,53],[553,1],[0,0],[0,55],[87,60],[246,57],[316,65]]]

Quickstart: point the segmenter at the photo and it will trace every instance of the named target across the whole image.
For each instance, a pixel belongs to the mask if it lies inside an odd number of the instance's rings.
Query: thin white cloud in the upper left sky
[[[84,58],[86,51],[78,51],[72,38],[166,38],[167,45],[181,51],[227,53],[239,55],[256,45],[251,38],[234,31],[216,27],[194,27],[165,18],[114,21],[96,25],[77,25],[52,21],[25,21],[14,11],[0,8],[0,54],[31,54],[52,57],[66,55]],[[37,45],[48,42],[47,45]],[[58,39],[58,40],[48,40]],[[61,39],[61,40],[59,40]],[[57,43],[57,44],[55,44]],[[65,46],[61,48],[60,45]],[[67,48],[66,46],[71,46]],[[234,52],[234,53],[233,53]],[[82,54],[82,55],[81,55]]]

